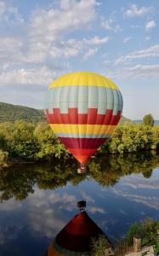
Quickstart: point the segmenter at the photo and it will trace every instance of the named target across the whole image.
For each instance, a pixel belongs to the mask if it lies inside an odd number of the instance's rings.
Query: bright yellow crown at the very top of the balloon
[[[76,72],[67,73],[59,79],[54,80],[48,88],[61,87],[61,86],[99,86],[119,90],[117,85],[110,79],[94,72]]]

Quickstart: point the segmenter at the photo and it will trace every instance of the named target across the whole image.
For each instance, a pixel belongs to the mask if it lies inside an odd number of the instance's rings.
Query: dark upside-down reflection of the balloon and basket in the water
[[[80,208],[80,212],[55,237],[48,247],[48,256],[79,256],[83,253],[90,253],[91,239],[93,237],[98,239],[99,235],[105,236],[105,233],[85,211],[86,201],[78,201],[77,207]],[[105,239],[105,247],[112,248],[111,241],[107,236]]]

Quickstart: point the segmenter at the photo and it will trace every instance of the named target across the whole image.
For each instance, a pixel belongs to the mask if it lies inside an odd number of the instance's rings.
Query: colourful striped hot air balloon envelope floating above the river
[[[83,167],[119,122],[122,94],[98,73],[68,73],[48,86],[45,113],[54,134]]]

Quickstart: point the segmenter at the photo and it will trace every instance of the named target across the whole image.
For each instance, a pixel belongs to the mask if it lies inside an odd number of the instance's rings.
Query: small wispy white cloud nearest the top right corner
[[[141,8],[138,8],[138,6],[136,4],[132,4],[130,6],[129,9],[127,9],[123,15],[125,17],[128,17],[128,18],[133,18],[133,17],[142,17],[148,13],[152,12],[152,8],[151,7],[141,7]]]

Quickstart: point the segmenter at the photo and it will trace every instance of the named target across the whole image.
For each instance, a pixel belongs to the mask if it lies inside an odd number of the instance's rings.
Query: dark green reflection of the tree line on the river
[[[156,166],[159,166],[159,155],[152,153],[98,156],[90,160],[88,172],[84,175],[77,174],[77,163],[71,160],[14,166],[0,172],[0,198],[1,201],[10,198],[23,200],[34,193],[35,186],[56,189],[68,182],[77,185],[87,178],[102,186],[113,186],[121,177],[132,173],[142,173],[149,178]]]

